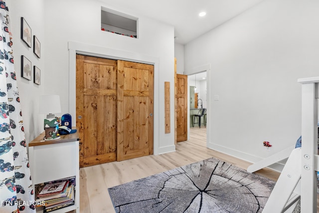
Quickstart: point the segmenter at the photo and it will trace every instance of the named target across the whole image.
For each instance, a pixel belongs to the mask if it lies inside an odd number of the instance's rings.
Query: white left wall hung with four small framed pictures
[[[12,49],[14,56],[14,68],[17,85],[19,89],[19,98],[23,116],[24,133],[27,143],[33,140],[43,131],[43,115],[39,115],[39,95],[44,90],[44,75],[46,73],[44,66],[44,1],[43,0],[6,0],[10,12]],[[32,45],[29,48],[20,39],[20,18],[24,17],[32,32]],[[36,35],[41,44],[41,55],[37,58],[33,53],[33,35]],[[21,55],[24,55],[32,63],[31,81],[21,77]],[[33,66],[41,70],[40,85],[33,83]],[[39,116],[41,119],[39,119]],[[41,122],[40,122],[41,121]]]

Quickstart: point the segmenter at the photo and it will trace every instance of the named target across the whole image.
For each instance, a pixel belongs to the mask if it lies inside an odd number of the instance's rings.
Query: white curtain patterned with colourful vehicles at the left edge
[[[9,11],[3,0],[0,18],[0,213],[35,213],[13,66]]]

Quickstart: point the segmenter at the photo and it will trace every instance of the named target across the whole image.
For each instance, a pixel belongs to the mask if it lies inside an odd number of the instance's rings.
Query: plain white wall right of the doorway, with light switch
[[[319,75],[319,1],[265,0],[185,45],[207,75],[208,146],[256,162],[301,135],[301,85]],[[273,147],[267,149],[263,141]]]

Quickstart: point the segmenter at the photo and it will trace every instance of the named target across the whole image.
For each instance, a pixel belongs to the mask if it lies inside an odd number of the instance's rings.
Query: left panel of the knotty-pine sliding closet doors
[[[117,61],[77,55],[76,126],[80,167],[116,161]]]

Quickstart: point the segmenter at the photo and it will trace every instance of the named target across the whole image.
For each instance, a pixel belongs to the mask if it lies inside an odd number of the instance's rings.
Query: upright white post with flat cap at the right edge
[[[302,78],[301,211],[317,213],[319,77]]]

